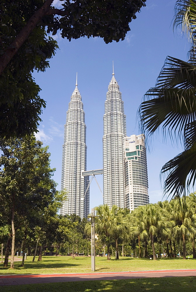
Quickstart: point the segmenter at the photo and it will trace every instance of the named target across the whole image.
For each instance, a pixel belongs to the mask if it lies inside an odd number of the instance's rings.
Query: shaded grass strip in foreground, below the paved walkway
[[[195,292],[196,277],[79,281],[2,286],[1,292]]]

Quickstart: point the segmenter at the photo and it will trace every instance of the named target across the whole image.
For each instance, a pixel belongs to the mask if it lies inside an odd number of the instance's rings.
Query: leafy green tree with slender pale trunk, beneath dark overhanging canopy
[[[11,268],[14,268],[15,232],[32,210],[41,211],[54,199],[56,183],[51,179],[47,147],[34,135],[0,140],[0,197],[9,209],[12,228]],[[18,226],[16,224],[18,223]]]

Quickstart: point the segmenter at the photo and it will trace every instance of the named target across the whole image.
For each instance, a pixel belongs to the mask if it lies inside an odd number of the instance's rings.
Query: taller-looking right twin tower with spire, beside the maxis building
[[[124,137],[126,116],[119,85],[114,77],[108,86],[103,116],[103,203],[125,207]]]

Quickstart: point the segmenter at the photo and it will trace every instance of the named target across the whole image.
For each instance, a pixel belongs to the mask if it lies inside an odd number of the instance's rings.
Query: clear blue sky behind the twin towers
[[[138,135],[136,113],[145,92],[155,85],[166,56],[187,60],[189,44],[178,29],[173,32],[175,0],[147,0],[146,7],[130,23],[131,31],[124,41],[105,44],[101,38],[80,38],[69,42],[60,33],[54,38],[59,50],[50,60],[46,72],[34,73],[41,87],[41,98],[46,109],[41,115],[37,138],[49,145],[51,166],[56,168],[54,180],[60,190],[63,131],[66,111],[75,88],[78,72],[78,89],[84,104],[87,144],[87,170],[103,167],[102,137],[106,92],[112,78],[114,61],[115,78],[122,92],[126,114],[127,135]],[[54,5],[59,7],[60,1]],[[162,166],[176,156],[177,149],[162,136],[154,138],[153,151],[147,152],[150,202],[162,200],[159,173]],[[102,175],[96,176],[103,188]],[[90,208],[103,204],[96,182],[90,188]]]

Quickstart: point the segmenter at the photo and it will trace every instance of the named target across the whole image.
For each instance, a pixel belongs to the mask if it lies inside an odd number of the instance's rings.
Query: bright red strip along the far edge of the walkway
[[[174,273],[174,272],[196,272],[194,269],[190,270],[149,270],[149,271],[133,271],[133,272],[110,272],[110,273],[79,273],[79,274],[37,274],[37,275],[0,275],[3,278],[46,278],[46,277],[77,277],[77,276],[107,276],[107,275],[121,275],[121,274],[146,274],[146,273]]]

